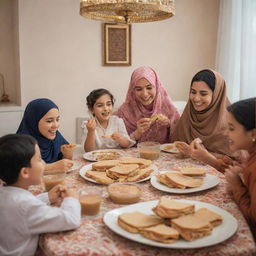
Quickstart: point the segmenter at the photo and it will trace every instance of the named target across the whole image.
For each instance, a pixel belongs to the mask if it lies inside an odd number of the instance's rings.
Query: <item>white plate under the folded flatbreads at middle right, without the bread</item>
[[[165,172],[161,172],[165,173]],[[158,190],[168,192],[168,193],[174,193],[174,194],[187,194],[187,193],[193,193],[193,192],[198,192],[202,190],[206,190],[212,187],[215,187],[219,184],[220,180],[217,176],[211,175],[211,174],[206,174],[204,177],[204,183],[200,187],[196,188],[169,188],[165,186],[164,184],[160,183],[157,180],[157,177],[154,175],[151,177],[150,182],[153,187],[155,187]]]

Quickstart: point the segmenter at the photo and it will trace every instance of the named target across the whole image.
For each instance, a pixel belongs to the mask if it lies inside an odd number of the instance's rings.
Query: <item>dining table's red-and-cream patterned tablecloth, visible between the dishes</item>
[[[139,157],[137,148],[125,149],[122,152],[125,156]],[[199,167],[203,168],[206,173],[218,177],[218,185],[193,193],[177,194],[156,189],[152,186],[149,179],[136,183],[142,191],[140,203],[159,200],[161,196],[167,196],[171,199],[194,200],[217,206],[230,213],[237,220],[237,230],[227,240],[206,247],[202,245],[200,248],[180,249],[151,246],[150,243],[143,244],[113,232],[104,223],[104,215],[124,205],[116,204],[110,200],[107,185],[88,181],[80,175],[80,169],[92,163],[84,159],[83,154],[76,155],[73,160],[79,168],[67,174],[65,183],[68,187],[77,190],[91,191],[96,189],[96,187],[101,189],[102,203],[100,212],[95,216],[83,215],[80,227],[75,230],[42,234],[39,239],[38,256],[256,255],[256,245],[250,228],[239,207],[226,191],[225,176],[213,167],[191,158],[161,152],[159,158],[153,162],[158,172],[175,170],[182,167]],[[43,186],[33,186],[30,190],[32,193],[38,194],[43,192]]]

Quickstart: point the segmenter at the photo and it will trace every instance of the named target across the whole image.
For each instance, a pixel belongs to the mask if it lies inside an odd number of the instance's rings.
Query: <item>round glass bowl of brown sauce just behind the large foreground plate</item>
[[[108,186],[108,194],[116,204],[133,204],[140,200],[141,189],[132,183],[113,183]]]

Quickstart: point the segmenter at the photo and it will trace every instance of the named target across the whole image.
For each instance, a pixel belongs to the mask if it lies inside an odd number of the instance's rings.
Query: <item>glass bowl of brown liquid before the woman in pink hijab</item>
[[[154,141],[141,142],[137,146],[141,158],[156,160],[160,155],[160,143]]]

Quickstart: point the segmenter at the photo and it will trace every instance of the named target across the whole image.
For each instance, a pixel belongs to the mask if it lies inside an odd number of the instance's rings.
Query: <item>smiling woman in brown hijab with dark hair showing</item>
[[[183,154],[219,171],[224,171],[231,161],[226,135],[227,105],[222,76],[209,69],[199,71],[191,81],[189,101],[173,135],[173,141],[181,141],[176,146]]]

